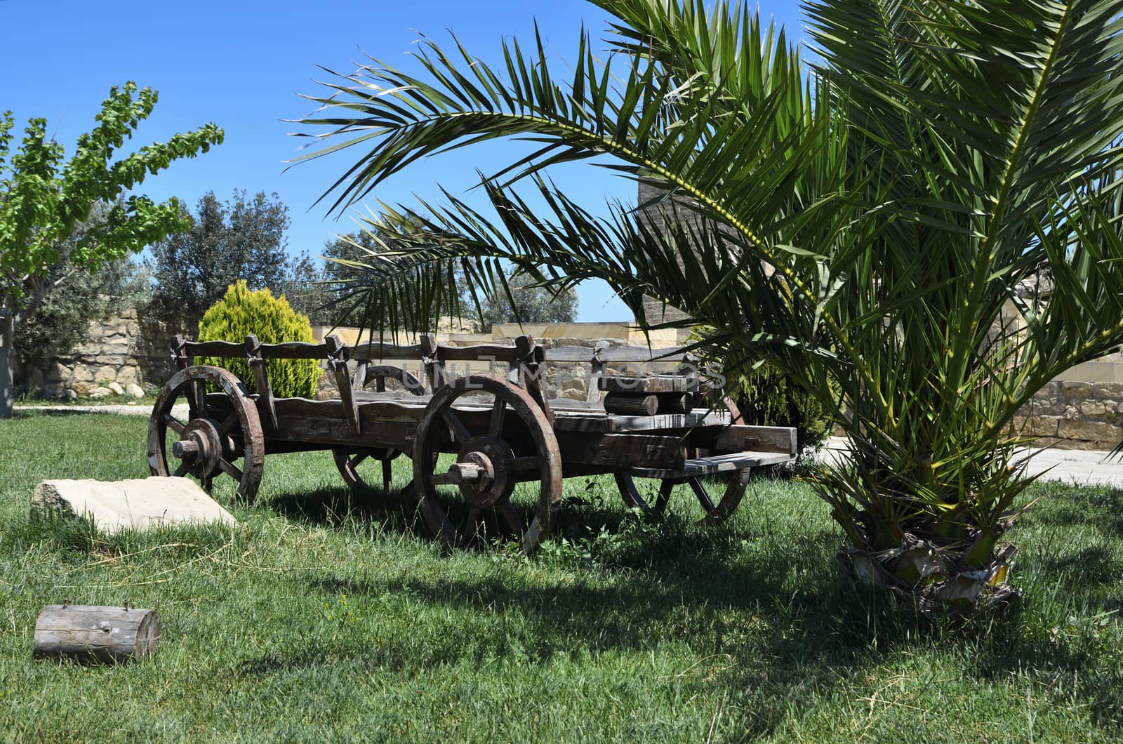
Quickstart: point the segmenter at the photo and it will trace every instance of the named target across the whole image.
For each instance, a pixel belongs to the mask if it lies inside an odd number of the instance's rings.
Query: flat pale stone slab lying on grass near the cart
[[[31,515],[90,515],[98,529],[148,529],[165,525],[237,525],[234,516],[186,478],[124,481],[55,480],[35,487]]]

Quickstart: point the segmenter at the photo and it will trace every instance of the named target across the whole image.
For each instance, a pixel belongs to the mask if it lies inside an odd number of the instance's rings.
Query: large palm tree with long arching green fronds
[[[382,205],[368,227],[403,247],[350,291],[431,318],[450,264],[491,287],[506,261],[603,279],[649,327],[643,294],[676,306],[732,372],[769,360],[841,421],[852,463],[814,487],[857,575],[925,613],[1008,597],[1017,411],[1123,345],[1123,2],[814,0],[812,64],[740,3],[594,2],[605,60],[584,30],[567,67],[540,39],[497,69],[424,39],[423,79],[372,61],[325,83],[309,157],[359,153],[334,209],[439,151],[539,146],[483,179],[486,210]],[[659,197],[595,215],[544,174],[593,158]]]

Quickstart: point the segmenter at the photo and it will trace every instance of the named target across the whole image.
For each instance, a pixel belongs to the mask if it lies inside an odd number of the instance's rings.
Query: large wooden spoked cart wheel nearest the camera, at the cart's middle
[[[482,398],[480,407],[454,409],[465,394]],[[436,472],[439,452],[456,453],[456,463],[444,473]],[[529,523],[510,498],[521,481],[541,484]],[[426,408],[413,444],[413,484],[426,524],[446,544],[471,543],[484,518],[494,514],[530,553],[554,526],[562,500],[562,454],[549,419],[530,393],[503,380],[473,375],[441,388]],[[449,519],[438,486],[459,487],[467,502],[459,527]]]

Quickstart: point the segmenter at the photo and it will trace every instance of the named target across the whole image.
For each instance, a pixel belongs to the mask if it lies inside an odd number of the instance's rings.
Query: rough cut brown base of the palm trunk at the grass
[[[893,592],[924,617],[939,618],[1008,607],[1019,596],[1007,580],[1016,552],[1007,543],[984,565],[967,568],[946,546],[905,533],[900,547],[848,545],[836,557],[855,580]]]

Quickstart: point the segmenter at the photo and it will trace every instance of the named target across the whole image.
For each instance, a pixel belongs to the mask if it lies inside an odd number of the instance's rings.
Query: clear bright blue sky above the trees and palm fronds
[[[796,2],[763,2],[793,36],[801,36]],[[298,93],[316,93],[327,79],[316,65],[347,73],[363,55],[404,65],[419,34],[438,43],[454,30],[476,56],[499,60],[500,40],[531,39],[537,20],[548,49],[572,60],[582,22],[601,35],[606,13],[587,2],[350,2],[294,3],[228,0],[166,2],[51,2],[0,0],[0,110],[10,109],[18,126],[46,117],[48,131],[73,149],[75,137],[93,126],[102,99],[115,84],[135,80],[159,91],[153,116],[137,131],[137,144],[166,140],[214,121],[226,142],[192,161],[180,161],[146,181],[139,191],[154,199],[180,197],[190,206],[212,190],[226,199],[234,189],[276,192],[290,208],[289,248],[317,255],[332,234],[354,225],[312,207],[355,156],[309,162],[285,172],[299,155],[300,138],[284,119],[312,112]],[[417,194],[438,200],[437,184],[463,193],[477,169],[489,171],[510,158],[515,145],[491,143],[414,164],[381,185],[374,196],[387,202],[413,202]],[[588,165],[553,173],[588,208],[606,199],[634,201],[633,183]],[[578,320],[629,320],[606,285],[578,290]]]

